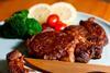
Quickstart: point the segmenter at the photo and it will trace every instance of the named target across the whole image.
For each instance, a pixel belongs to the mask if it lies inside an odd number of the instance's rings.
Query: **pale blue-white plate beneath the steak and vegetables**
[[[80,20],[87,20],[94,15],[78,12],[78,16],[75,20],[75,24],[78,24]],[[106,31],[110,40],[110,22],[107,22],[100,17],[96,17],[96,22],[99,23]],[[1,23],[2,24],[2,23]],[[4,39],[0,38],[0,73],[7,73],[6,54],[14,49],[22,40],[20,39]],[[103,48],[102,58],[99,60],[90,60],[89,63],[110,65],[110,42]]]

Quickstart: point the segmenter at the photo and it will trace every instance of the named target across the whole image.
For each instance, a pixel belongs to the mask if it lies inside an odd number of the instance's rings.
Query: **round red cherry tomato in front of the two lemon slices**
[[[52,14],[47,17],[47,24],[52,27],[55,27],[57,25],[57,22],[59,21],[59,17],[57,14]]]

